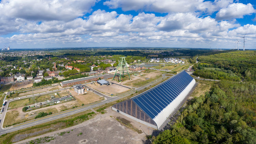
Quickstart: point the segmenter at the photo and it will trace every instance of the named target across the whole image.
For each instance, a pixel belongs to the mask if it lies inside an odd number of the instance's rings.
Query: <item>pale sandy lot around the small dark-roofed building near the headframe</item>
[[[116,83],[116,82],[115,82]],[[113,94],[114,96],[118,95],[119,93],[123,93],[125,91],[130,90],[129,86],[123,87],[123,86],[119,86],[116,84],[112,84],[112,85],[94,85],[94,84],[88,84],[89,87],[96,89],[102,93],[104,93],[105,95],[111,96],[111,94]]]

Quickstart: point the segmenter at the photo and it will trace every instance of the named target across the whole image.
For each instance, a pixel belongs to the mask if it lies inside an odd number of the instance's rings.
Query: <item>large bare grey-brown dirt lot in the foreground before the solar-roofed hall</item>
[[[142,144],[145,141],[145,134],[138,133],[132,129],[120,124],[116,117],[119,119],[126,119],[132,126],[142,129],[146,132],[152,133],[153,129],[138,123],[128,117],[125,117],[109,107],[107,113],[98,114],[95,118],[89,119],[82,124],[69,127],[63,130],[43,134],[19,143],[26,144],[27,142],[35,139],[45,139],[49,136],[49,143],[51,144]]]

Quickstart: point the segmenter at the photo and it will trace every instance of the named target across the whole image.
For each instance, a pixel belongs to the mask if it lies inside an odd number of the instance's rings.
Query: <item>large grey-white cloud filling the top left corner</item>
[[[0,14],[27,20],[72,20],[90,12],[96,0],[2,0]]]

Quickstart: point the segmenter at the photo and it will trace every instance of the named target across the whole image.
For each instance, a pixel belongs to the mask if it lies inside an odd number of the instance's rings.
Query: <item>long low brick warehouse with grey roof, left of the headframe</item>
[[[77,79],[69,80],[69,81],[63,81],[63,82],[60,82],[60,85],[62,87],[72,86],[72,85],[77,85],[77,84],[88,83],[88,82],[91,82],[91,81],[97,81],[97,80],[99,80],[99,78],[103,79],[103,75],[99,74],[99,75],[94,75],[94,76],[77,78]]]

